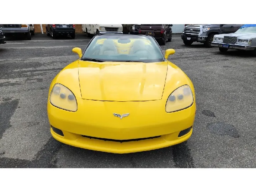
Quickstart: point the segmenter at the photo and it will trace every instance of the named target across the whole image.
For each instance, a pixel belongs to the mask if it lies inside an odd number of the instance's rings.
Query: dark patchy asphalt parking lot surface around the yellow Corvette
[[[192,136],[159,150],[110,154],[62,144],[52,138],[47,118],[50,82],[78,59],[85,34],[31,41],[7,39],[0,45],[0,167],[78,168],[252,168],[256,167],[256,58],[240,51],[220,53],[180,35],[162,50],[192,80],[197,113]]]

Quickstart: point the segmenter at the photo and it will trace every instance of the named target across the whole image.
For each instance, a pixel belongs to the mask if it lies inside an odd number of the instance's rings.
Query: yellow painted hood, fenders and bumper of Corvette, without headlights
[[[181,130],[193,127],[196,113],[194,87],[185,73],[170,62],[96,63],[77,60],[53,79],[49,95],[56,83],[68,87],[78,103],[76,112],[65,111],[54,107],[48,96],[50,126],[62,130],[64,137],[52,129],[51,133],[60,142],[91,150],[132,153],[175,145],[192,134],[191,130],[178,137]],[[182,85],[191,87],[193,104],[184,110],[167,113],[167,98]],[[129,113],[129,116],[121,119],[113,113]],[[120,143],[82,135],[114,140],[161,137]]]

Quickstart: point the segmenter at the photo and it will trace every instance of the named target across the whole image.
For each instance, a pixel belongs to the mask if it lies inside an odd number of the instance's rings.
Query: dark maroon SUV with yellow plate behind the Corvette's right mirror
[[[172,24],[142,24],[139,34],[153,36],[160,44],[172,39]]]

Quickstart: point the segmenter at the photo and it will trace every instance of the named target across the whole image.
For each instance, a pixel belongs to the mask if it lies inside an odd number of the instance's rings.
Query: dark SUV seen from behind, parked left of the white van
[[[46,34],[47,36],[52,36],[53,39],[57,35],[71,36],[75,38],[75,25],[74,24],[47,24],[46,25]]]

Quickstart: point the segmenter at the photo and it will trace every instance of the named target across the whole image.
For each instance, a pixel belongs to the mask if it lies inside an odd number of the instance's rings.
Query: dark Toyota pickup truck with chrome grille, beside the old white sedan
[[[211,43],[215,34],[234,33],[241,26],[240,24],[185,25],[181,38],[185,45],[200,42],[206,47],[212,47]]]

